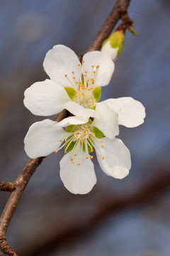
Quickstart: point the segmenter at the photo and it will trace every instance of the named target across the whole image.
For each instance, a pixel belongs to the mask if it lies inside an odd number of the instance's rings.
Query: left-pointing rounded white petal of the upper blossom
[[[64,110],[65,102],[71,101],[64,87],[49,79],[35,82],[24,95],[28,110],[41,116],[57,114]]]

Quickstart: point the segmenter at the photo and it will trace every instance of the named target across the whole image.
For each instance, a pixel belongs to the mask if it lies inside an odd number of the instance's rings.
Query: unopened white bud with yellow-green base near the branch
[[[116,60],[123,50],[125,35],[123,31],[115,31],[102,43],[101,52],[108,53],[112,60]]]

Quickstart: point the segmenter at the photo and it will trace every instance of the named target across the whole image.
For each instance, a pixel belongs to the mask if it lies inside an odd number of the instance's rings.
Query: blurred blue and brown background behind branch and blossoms
[[[26,132],[44,119],[23,106],[23,92],[47,78],[42,72],[47,50],[64,44],[77,55],[84,53],[114,3],[0,0],[1,181],[20,174],[28,161]],[[132,0],[128,11],[138,36],[127,31],[101,100],[130,96],[146,107],[144,124],[120,128],[119,138],[132,156],[130,174],[123,180],[106,176],[94,159],[96,186],[87,195],[73,195],[60,180],[63,152],[48,156],[28,183],[8,228],[7,240],[18,255],[170,255],[170,190],[152,191],[152,179],[159,180],[169,169],[170,3]],[[7,198],[1,192],[0,210]]]

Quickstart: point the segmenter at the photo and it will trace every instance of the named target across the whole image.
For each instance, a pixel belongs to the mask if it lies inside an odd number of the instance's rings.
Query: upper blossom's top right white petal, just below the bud
[[[91,65],[94,65],[95,67],[96,65],[99,65],[95,85],[96,87],[108,85],[115,69],[111,56],[107,53],[101,53],[100,51],[95,50],[86,53],[83,60],[84,68],[87,71],[87,78],[91,78]]]

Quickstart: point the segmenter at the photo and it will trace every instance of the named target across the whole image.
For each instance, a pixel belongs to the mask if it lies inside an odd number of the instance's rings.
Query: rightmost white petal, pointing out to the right
[[[118,112],[119,124],[125,127],[137,127],[144,122],[145,107],[132,97],[120,97],[106,100],[109,107]]]

